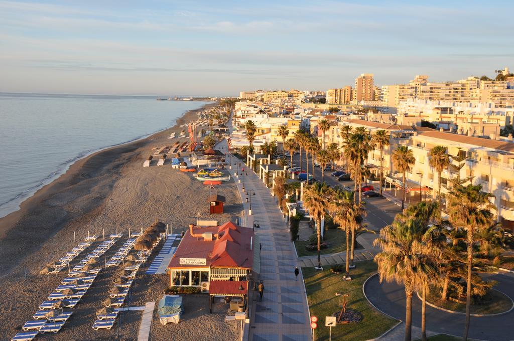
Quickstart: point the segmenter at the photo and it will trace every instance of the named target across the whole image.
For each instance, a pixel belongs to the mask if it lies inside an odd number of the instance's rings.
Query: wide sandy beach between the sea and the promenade
[[[168,137],[172,132],[178,135],[184,129],[181,124],[196,120],[198,112],[212,106],[214,104],[189,111],[174,127],[146,139],[105,149],[78,161],[56,181],[27,199],[19,211],[0,219],[0,339],[10,339],[20,332],[25,321],[32,319],[39,304],[67,274],[67,270],[63,270],[57,275],[44,276],[40,275],[40,270],[75,247],[88,231],[97,233],[100,238],[72,261],[71,266],[98,245],[103,230],[106,235],[116,228],[124,233],[105,253],[109,259],[128,238],[129,227],[135,232],[159,219],[172,223],[175,233],[198,218],[209,217],[206,202],[209,186],[169,165],[143,168],[142,164],[153,147],[185,141]],[[210,219],[225,222],[231,216],[240,215],[242,204],[234,183],[224,183],[218,186],[218,191],[227,198],[225,213]],[[74,232],[77,241],[74,241]],[[160,247],[136,276],[131,306],[144,306],[145,302],[158,300],[169,285],[166,275],[144,274]],[[95,313],[102,308],[101,302],[107,298],[115,273],[120,269],[121,266],[103,269],[73,309],[63,329],[58,334],[39,335],[38,339],[137,339],[141,311],[124,312],[119,328],[100,331],[91,328]],[[205,311],[207,296],[192,295],[185,303],[185,322],[178,325],[161,326],[154,311],[151,339],[189,340],[201,335],[216,335],[209,337],[211,340],[234,338],[237,326],[225,323],[226,312],[220,310],[200,317],[208,313]]]

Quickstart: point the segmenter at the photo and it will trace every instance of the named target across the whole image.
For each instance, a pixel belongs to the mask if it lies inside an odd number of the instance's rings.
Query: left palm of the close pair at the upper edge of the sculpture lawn
[[[336,186],[332,190],[332,201],[330,210],[334,217],[334,222],[346,233],[346,271],[345,277],[350,277],[350,234],[354,235],[356,229],[355,191],[344,191],[341,186]]]

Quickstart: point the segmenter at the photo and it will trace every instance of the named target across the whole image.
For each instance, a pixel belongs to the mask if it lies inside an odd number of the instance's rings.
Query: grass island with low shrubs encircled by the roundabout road
[[[457,311],[466,312],[466,305],[453,302],[451,300],[442,301],[440,299],[439,290],[431,290],[427,294],[427,301],[437,307]],[[471,314],[498,314],[503,313],[512,308],[512,301],[508,296],[498,290],[490,290],[482,297],[480,304],[471,305]]]

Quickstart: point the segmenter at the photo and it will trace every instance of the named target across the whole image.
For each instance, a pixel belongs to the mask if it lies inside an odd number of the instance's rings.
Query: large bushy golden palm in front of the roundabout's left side
[[[380,231],[373,245],[382,251],[375,256],[380,282],[395,281],[405,286],[405,340],[412,335],[412,294],[420,283],[437,273],[432,259],[437,257],[431,247],[435,226],[428,227],[421,220],[409,217],[395,218],[393,223]]]

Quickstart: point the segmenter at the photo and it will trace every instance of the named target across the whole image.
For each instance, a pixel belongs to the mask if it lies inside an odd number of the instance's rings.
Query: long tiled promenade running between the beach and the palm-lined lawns
[[[220,146],[223,147],[223,146]],[[233,175],[235,172],[232,157]],[[237,161],[238,164],[238,161]],[[243,166],[243,165],[242,165]],[[237,183],[237,181],[236,181]],[[242,191],[243,182],[237,183]],[[262,301],[254,298],[250,312],[249,341],[307,341],[311,339],[309,310],[302,276],[295,280],[296,253],[290,241],[287,225],[270,190],[253,172],[245,176],[246,191],[252,195],[252,215],[247,226],[258,220],[256,230],[262,244],[260,280],[264,281]],[[246,192],[241,192],[243,202]],[[250,203],[244,203],[246,212]],[[255,295],[254,297],[259,297]]]

